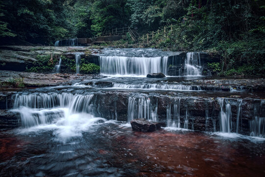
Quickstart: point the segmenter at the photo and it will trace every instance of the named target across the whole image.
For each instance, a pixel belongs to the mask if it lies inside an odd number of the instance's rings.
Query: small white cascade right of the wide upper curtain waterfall
[[[202,74],[200,54],[197,52],[188,52],[185,58],[185,75],[200,76]]]

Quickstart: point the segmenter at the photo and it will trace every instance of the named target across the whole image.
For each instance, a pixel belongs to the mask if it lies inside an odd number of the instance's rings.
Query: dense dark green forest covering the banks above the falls
[[[221,75],[261,75],[264,14],[264,0],[0,0],[0,43],[53,45],[112,28],[142,35],[172,25],[144,46],[218,52]]]

